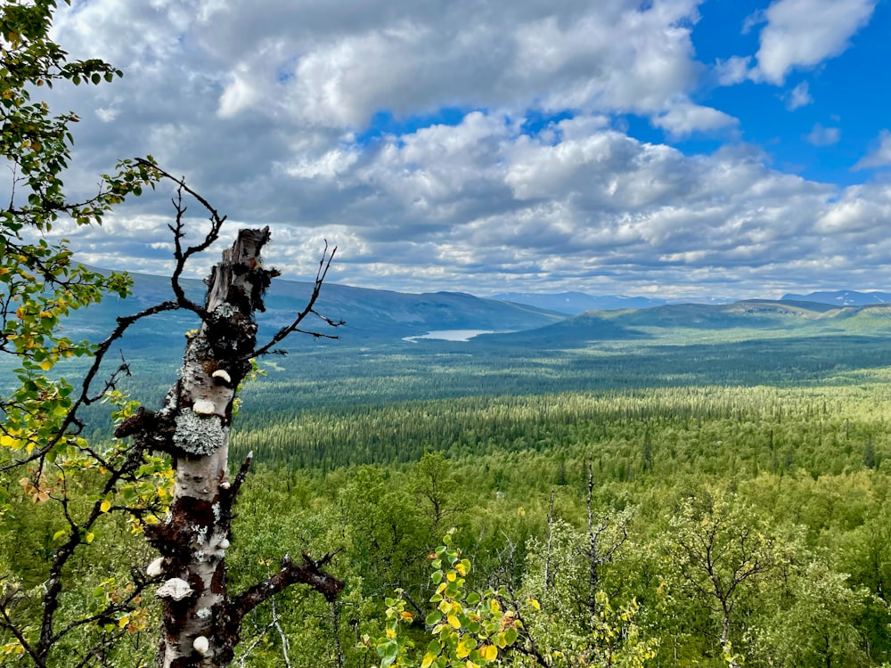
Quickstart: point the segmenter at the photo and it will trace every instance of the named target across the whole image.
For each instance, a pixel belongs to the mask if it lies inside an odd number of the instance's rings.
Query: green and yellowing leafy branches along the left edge
[[[124,160],[100,177],[97,191],[69,198],[63,176],[78,117],[54,113],[38,94],[121,73],[98,60],[69,61],[49,37],[55,8],[53,0],[0,6],[0,156],[11,179],[0,210],[0,358],[14,360],[12,386],[0,394],[0,656],[37,665],[61,656],[110,661],[122,636],[148,626],[145,583],[102,555],[132,547],[120,535],[119,513],[134,529],[157,521],[169,482],[165,461],[82,435],[78,410],[102,395],[90,387],[95,364],[79,387],[59,375],[72,368],[65,360],[101,349],[68,338],[63,320],[103,297],[126,297],[131,281],[80,265],[67,240],[47,239],[62,221],[101,224],[157,175],[151,159]],[[104,551],[86,559],[87,545]]]

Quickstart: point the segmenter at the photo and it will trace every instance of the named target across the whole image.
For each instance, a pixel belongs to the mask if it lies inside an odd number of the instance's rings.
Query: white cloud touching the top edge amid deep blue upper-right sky
[[[878,0],[777,0],[760,19],[756,67],[751,77],[781,86],[792,69],[811,68],[837,56],[869,23]]]

